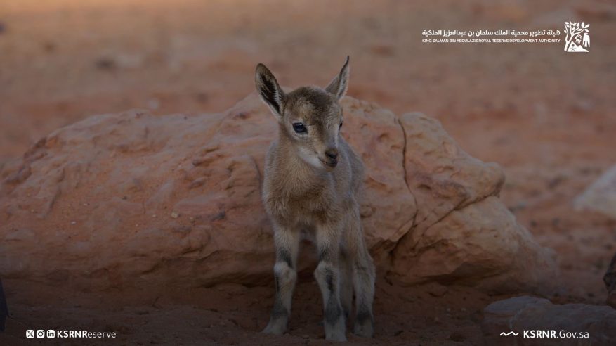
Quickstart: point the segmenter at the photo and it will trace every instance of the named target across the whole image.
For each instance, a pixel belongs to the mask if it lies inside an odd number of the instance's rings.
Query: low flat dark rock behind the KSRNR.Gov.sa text
[[[553,305],[522,296],[493,302],[483,313],[486,345],[612,345],[616,338],[616,310],[607,306]],[[511,331],[520,334],[500,335]],[[557,338],[524,338],[524,331],[554,331]],[[587,332],[589,338],[558,338],[561,331]]]

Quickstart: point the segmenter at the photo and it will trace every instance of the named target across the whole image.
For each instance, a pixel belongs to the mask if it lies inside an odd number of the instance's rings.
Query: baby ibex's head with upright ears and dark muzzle
[[[300,87],[285,94],[263,64],[256,66],[255,84],[259,96],[280,123],[280,136],[287,136],[299,156],[310,165],[334,169],[342,127],[342,107],[338,101],[348,87],[348,57],[339,75],[325,89]]]

